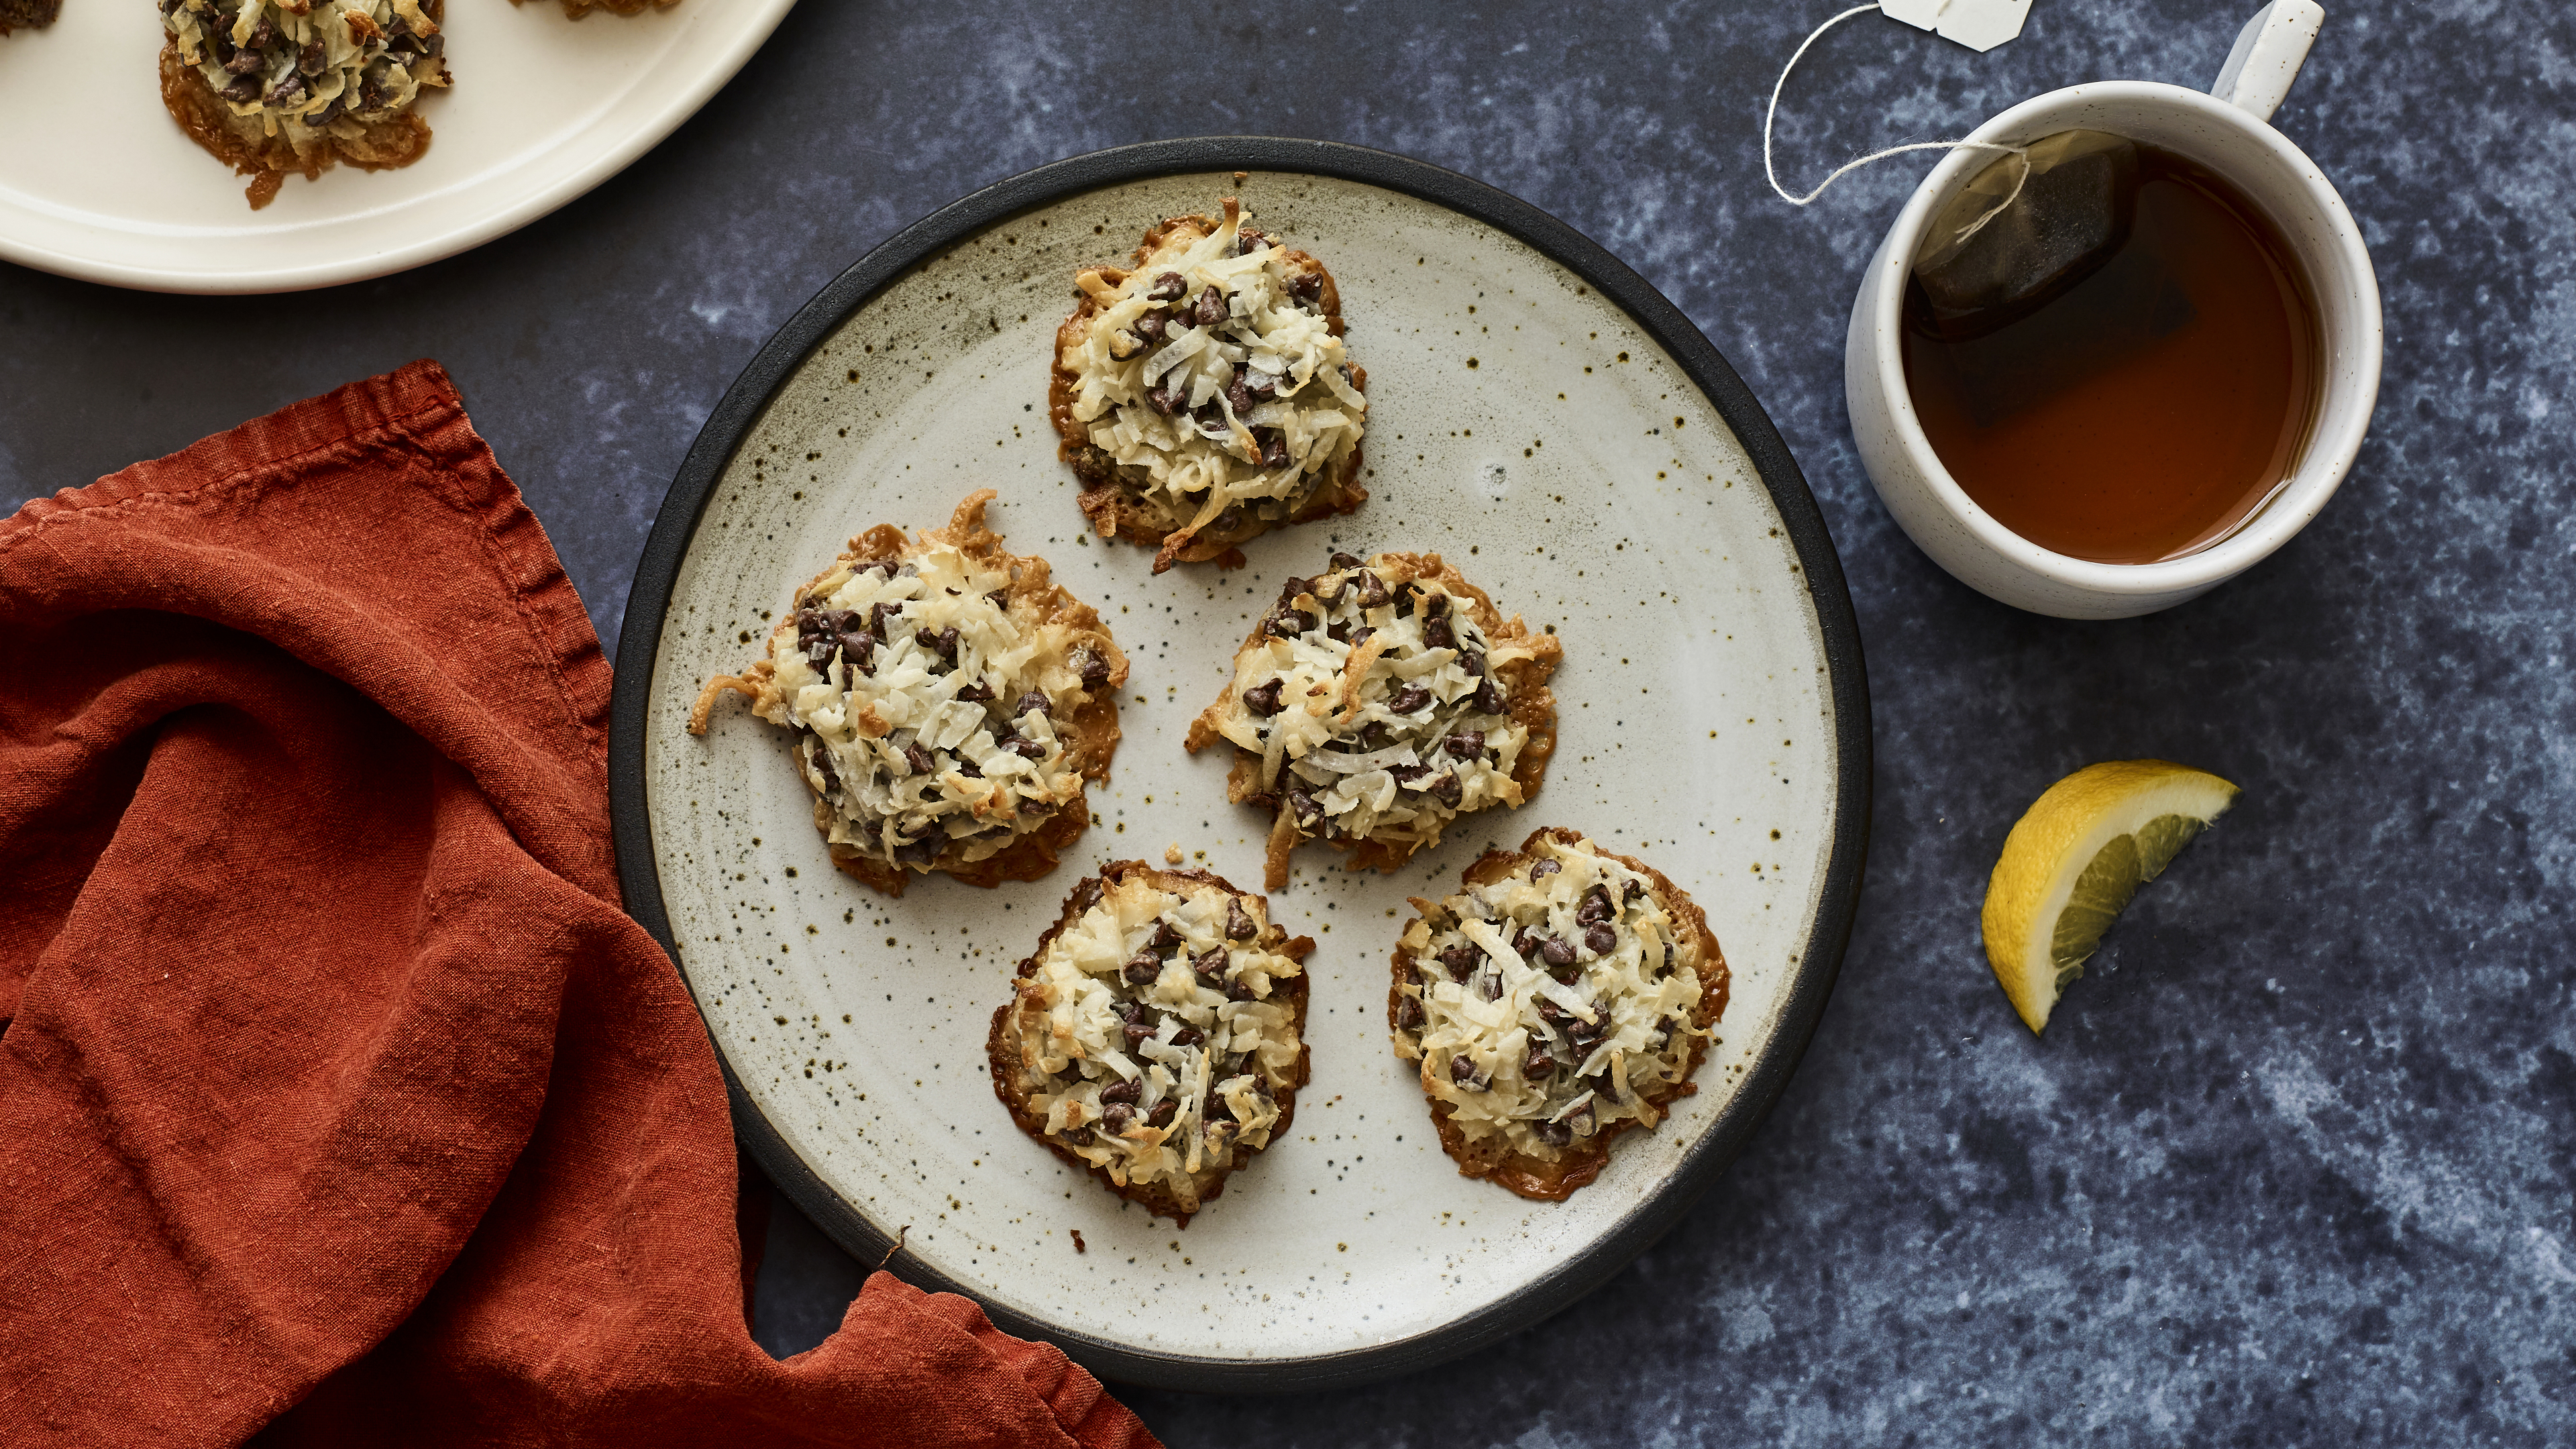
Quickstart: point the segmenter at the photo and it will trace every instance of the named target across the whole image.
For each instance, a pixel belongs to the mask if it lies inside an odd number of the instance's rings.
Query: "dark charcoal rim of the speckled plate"
[[[1664,1186],[1638,1201],[1610,1232],[1517,1292],[1443,1328],[1394,1343],[1309,1359],[1198,1359],[1188,1354],[1139,1351],[1087,1333],[1072,1333],[984,1302],[974,1289],[948,1281],[927,1263],[912,1258],[902,1263],[907,1269],[904,1276],[920,1287],[971,1297],[984,1305],[984,1312],[999,1328],[1023,1338],[1056,1343],[1074,1361],[1105,1379],[1193,1392],[1303,1392],[1388,1379],[1455,1359],[1535,1325],[1628,1266],[1631,1258],[1654,1245],[1656,1238],[1700,1201],[1744,1150],[1747,1140],[1752,1140],[1798,1067],[1798,1057],[1806,1055],[1816,1018],[1824,1016],[1824,1000],[1834,990],[1834,975],[1842,969],[1842,951],[1852,933],[1852,910],[1860,902],[1860,871],[1870,830],[1870,696],[1860,665],[1860,624],[1852,619],[1852,596],[1842,583],[1842,562],[1834,557],[1834,541],[1824,531],[1816,498],[1798,474],[1798,464],[1790,459],[1777,428],[1772,428],[1762,405],[1754,402],[1744,379],[1736,376],[1736,369],[1718,356],[1718,348],[1700,335],[1680,307],[1649,286],[1646,278],[1574,227],[1481,180],[1468,180],[1419,160],[1337,142],[1275,137],[1146,142],[1041,165],[933,211],[860,258],[858,266],[824,286],[814,302],[806,302],[786,327],[778,327],[778,335],[742,369],[742,376],[734,379],[734,387],[726,389],[724,400],[708,415],[706,428],[698,431],[698,441],[688,449],[688,459],[680,464],[680,474],[672,480],[670,495],[662,498],[662,511],[654,516],[644,559],[636,565],[634,590],[626,596],[616,696],[608,706],[608,810],[616,833],[618,879],[626,887],[626,910],[662,941],[662,949],[677,964],[680,951],[672,944],[670,918],[662,908],[652,820],[644,804],[644,714],[647,696],[652,694],[654,657],[662,650],[662,616],[670,608],[672,583],[698,531],[706,500],[716,492],[726,464],[760,420],[770,397],[796,374],[806,353],[912,266],[1023,211],[1133,180],[1234,170],[1329,175],[1432,201],[1517,237],[1625,309],[1682,366],[1690,382],[1708,394],[1770,490],[1772,508],[1780,513],[1780,523],[1798,552],[1798,572],[1824,634],[1826,686],[1834,704],[1834,755],[1839,761],[1834,779],[1834,848],[1826,861],[1824,890],[1816,900],[1816,920],[1806,951],[1793,969],[1780,1021],[1757,1052],[1744,1083],[1680,1168],[1664,1178]],[[683,967],[680,975],[685,980],[688,969]],[[724,1091],[734,1109],[734,1134],[752,1160],[860,1263],[884,1258],[894,1238],[868,1222],[806,1168],[742,1091],[742,1080],[734,1075],[734,1065],[724,1060],[721,1047],[716,1060],[724,1065]]]

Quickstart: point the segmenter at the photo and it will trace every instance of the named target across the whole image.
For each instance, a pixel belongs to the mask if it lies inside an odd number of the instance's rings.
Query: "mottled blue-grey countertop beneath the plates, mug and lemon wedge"
[[[2205,85],[2251,3],[2038,0],[1986,57],[1852,21],[1788,90],[1785,168],[2079,80]],[[1932,162],[1806,211],[1765,188],[1762,98],[1834,8],[819,0],[626,175],[348,289],[343,325],[312,327],[314,299],[0,266],[0,492],[435,356],[613,639],[714,400],[902,224],[1180,134],[1463,170],[1662,286],[1798,454],[1870,663],[1860,923],[1770,1124],[1582,1305],[1370,1390],[1128,1403],[1175,1446],[2568,1444],[2576,13],[2329,8],[2277,124],[2378,260],[2375,433],[2251,575],[2063,624],[1942,575],[1852,456],[1844,312]],[[2128,755],[2213,768],[2244,802],[2040,1042],[1984,967],[1976,902],[2032,794]],[[762,1343],[811,1346],[858,1276],[781,1209]]]

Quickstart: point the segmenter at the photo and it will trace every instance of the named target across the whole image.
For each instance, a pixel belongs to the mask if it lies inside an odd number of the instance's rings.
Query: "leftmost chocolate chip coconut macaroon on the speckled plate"
[[[1126,655],[1092,606],[984,526],[994,492],[907,541],[876,526],[796,590],[768,652],[716,676],[793,730],[832,864],[886,895],[912,874],[1038,879],[1090,825],[1084,789],[1118,750]]]

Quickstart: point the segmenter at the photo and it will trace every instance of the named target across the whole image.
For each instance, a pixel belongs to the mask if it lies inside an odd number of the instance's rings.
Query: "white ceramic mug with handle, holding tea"
[[[2071,85],[2022,101],[1968,137],[2022,144],[2081,126],[2164,147],[2236,183],[2290,242],[2318,304],[2324,394],[2287,485],[2218,544],[2151,565],[2076,559],[2004,529],[1968,498],[1932,454],[1906,394],[1901,309],[1924,227],[1994,152],[1950,152],[1896,217],[1852,302],[1842,387],[1860,467],[1878,498],[1906,536],[1960,583],[2061,619],[2154,614],[2254,567],[2306,529],[2344,482],[2380,392],[2380,286],[2344,199],[2306,152],[2267,124],[2321,18],[2313,0],[2267,5],[2239,36],[2218,95],[2151,80]]]

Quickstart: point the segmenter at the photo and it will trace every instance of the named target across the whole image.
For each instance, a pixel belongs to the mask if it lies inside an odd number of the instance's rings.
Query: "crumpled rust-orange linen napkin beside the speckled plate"
[[[1151,1444],[889,1274],[752,1343],[605,712],[435,364],[0,523],[0,1441]]]

